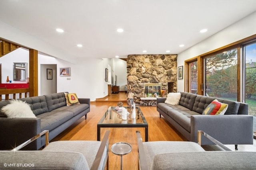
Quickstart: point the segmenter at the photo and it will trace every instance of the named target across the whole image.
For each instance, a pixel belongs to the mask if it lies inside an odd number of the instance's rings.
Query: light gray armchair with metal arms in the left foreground
[[[108,170],[108,136],[102,141],[56,141],[42,150],[0,150],[0,169]],[[43,131],[29,141],[48,134]],[[48,139],[46,140],[46,144]],[[27,143],[25,143],[27,144]]]

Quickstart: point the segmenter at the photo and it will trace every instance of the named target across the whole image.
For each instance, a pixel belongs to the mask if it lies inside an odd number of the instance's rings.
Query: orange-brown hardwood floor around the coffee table
[[[112,94],[101,101],[91,102],[90,112],[87,119],[82,117],[52,141],[58,140],[97,140],[97,123],[108,109],[109,106],[116,106],[117,102],[126,101],[126,94]],[[123,102],[127,106],[126,102]],[[156,106],[140,106],[144,117],[148,122],[148,141],[186,141],[186,139],[174,127],[166,121],[164,117],[160,118]],[[138,169],[138,147],[136,141],[136,131],[140,131],[144,141],[144,128],[102,128],[101,139],[106,132],[110,130],[109,136],[109,169],[120,169],[120,156],[112,154],[110,148],[114,143],[127,142],[132,146],[132,152],[123,156],[123,169]],[[249,146],[249,147],[247,147]],[[233,145],[229,146],[234,149]],[[239,145],[239,150],[256,151],[254,145]],[[246,149],[247,148],[247,149]],[[211,148],[210,148],[211,149]],[[209,150],[209,148],[208,148]]]

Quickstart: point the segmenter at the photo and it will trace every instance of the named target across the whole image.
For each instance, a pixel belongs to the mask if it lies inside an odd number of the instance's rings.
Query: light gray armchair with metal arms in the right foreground
[[[187,141],[138,143],[140,170],[255,170],[256,152],[205,151],[200,145]]]

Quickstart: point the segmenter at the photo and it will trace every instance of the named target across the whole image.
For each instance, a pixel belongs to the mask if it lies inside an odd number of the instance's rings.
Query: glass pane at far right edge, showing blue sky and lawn
[[[256,41],[244,45],[243,54],[245,61],[244,100],[249,106],[249,115],[253,115],[254,122],[256,122]],[[256,125],[254,123],[254,136],[256,135],[255,131]]]

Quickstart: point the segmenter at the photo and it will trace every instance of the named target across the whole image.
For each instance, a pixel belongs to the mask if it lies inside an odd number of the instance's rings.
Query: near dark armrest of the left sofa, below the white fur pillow
[[[11,150],[41,132],[40,118],[0,117],[0,150]],[[38,150],[41,139],[37,139],[24,150]]]

